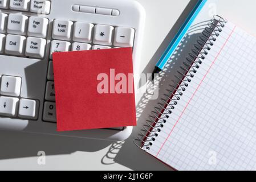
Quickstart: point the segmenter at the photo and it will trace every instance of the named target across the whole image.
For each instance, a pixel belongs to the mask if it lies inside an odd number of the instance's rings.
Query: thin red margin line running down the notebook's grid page
[[[208,71],[206,72],[205,76],[202,78],[200,84],[197,86],[197,89],[194,91],[192,97],[191,97],[190,100],[188,101],[188,104],[186,104],[186,107],[185,107],[184,110],[182,111],[180,117],[178,117],[178,120],[176,121],[175,125],[173,126],[172,130],[170,131],[168,137],[165,139],[164,143],[162,143],[161,148],[160,148],[159,151],[157,152],[156,158],[157,158],[157,156],[159,155],[160,151],[162,150],[162,147],[164,147],[165,143],[166,143],[167,140],[169,139],[170,135],[173,133],[174,128],[177,126],[177,124],[178,124],[178,122],[180,121],[180,119],[181,119],[182,115],[184,114],[185,110],[188,108],[190,102],[193,100],[193,98],[194,98],[194,96],[196,95],[198,89],[199,89],[200,86],[202,85],[202,82],[204,82],[206,76],[209,74],[210,69],[212,69],[213,65],[215,64],[216,60],[218,59],[218,56],[220,56],[220,54],[221,54],[222,50],[224,49],[224,47],[226,46],[227,42],[229,42],[229,39],[230,39],[231,35],[233,34],[233,32],[235,31],[235,28],[236,28],[236,27],[237,27],[237,26],[235,26],[235,27],[233,28],[233,30],[231,31],[231,33],[229,34],[229,37],[226,39],[226,42],[224,43],[224,45],[221,47],[220,52],[218,52],[218,55],[215,57],[213,63],[210,65],[210,68],[209,68]]]

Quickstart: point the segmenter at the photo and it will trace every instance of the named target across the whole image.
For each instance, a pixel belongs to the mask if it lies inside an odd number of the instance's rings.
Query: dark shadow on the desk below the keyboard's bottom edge
[[[37,156],[38,151],[46,152],[47,156],[72,154],[76,151],[95,152],[109,146],[112,142],[0,131],[0,143],[0,160],[2,160]]]

